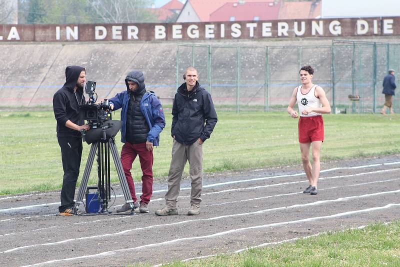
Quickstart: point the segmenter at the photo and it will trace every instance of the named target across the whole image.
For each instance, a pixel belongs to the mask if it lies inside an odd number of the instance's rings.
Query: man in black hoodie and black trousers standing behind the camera
[[[65,68],[65,83],[53,96],[54,116],[57,120],[57,139],[61,147],[61,160],[64,176],[61,188],[61,205],[59,215],[74,214],[73,197],[76,180],[79,175],[82,156],[82,138],[80,130],[89,126],[79,119],[79,105],[85,103],[83,83],[86,81],[86,70],[81,66]]]

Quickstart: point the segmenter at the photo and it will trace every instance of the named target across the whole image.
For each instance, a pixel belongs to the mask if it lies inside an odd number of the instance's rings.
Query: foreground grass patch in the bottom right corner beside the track
[[[363,229],[327,232],[275,246],[250,248],[166,267],[227,266],[399,266],[400,221],[370,224]],[[129,265],[131,266],[131,265]],[[132,265],[132,266],[149,266]]]

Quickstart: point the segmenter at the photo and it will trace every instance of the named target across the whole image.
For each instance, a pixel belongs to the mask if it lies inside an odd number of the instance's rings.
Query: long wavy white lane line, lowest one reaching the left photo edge
[[[222,219],[222,218],[229,218],[229,217],[248,216],[250,214],[259,214],[259,213],[265,213],[265,212],[269,212],[269,211],[283,210],[283,209],[296,208],[296,207],[313,206],[313,205],[325,204],[325,203],[329,203],[329,202],[347,201],[347,200],[355,199],[355,198],[369,197],[369,196],[375,196],[375,195],[381,195],[381,194],[398,193],[398,192],[400,192],[400,189],[394,190],[394,191],[385,191],[385,192],[377,192],[377,193],[370,193],[370,194],[339,197],[336,199],[318,200],[315,202],[310,202],[310,203],[305,203],[305,204],[294,204],[294,205],[290,205],[290,206],[273,207],[273,208],[267,208],[267,209],[263,209],[263,210],[229,214],[229,215],[221,215],[221,216],[216,216],[216,217],[211,217],[211,218],[190,219],[190,220],[182,220],[182,221],[177,221],[177,222],[172,222],[172,223],[155,224],[155,225],[150,225],[150,226],[146,226],[146,227],[137,227],[137,228],[133,228],[133,229],[126,229],[126,230],[115,232],[115,233],[90,235],[90,236],[83,236],[83,237],[78,237],[78,238],[64,239],[64,240],[56,241],[56,242],[18,246],[18,247],[11,248],[8,250],[0,251],[0,253],[8,253],[11,251],[20,250],[20,249],[28,248],[28,247],[34,247],[34,246],[53,245],[53,244],[60,244],[60,243],[65,243],[65,242],[75,241],[75,240],[84,240],[84,239],[102,238],[102,237],[106,237],[106,236],[120,235],[120,234],[125,234],[127,232],[135,231],[135,230],[142,230],[142,229],[148,229],[148,228],[154,228],[154,227],[162,227],[162,226],[167,226],[167,225],[169,226],[169,225],[183,224],[183,223],[195,222],[195,221],[207,221],[207,220],[215,220],[215,219]]]

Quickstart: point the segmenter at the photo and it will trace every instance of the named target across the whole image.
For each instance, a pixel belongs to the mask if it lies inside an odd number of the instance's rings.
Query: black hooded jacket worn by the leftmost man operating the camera
[[[83,88],[73,88],[76,85],[81,66],[67,66],[65,68],[65,83],[58,89],[53,96],[54,116],[57,120],[57,136],[76,136],[80,137],[80,132],[65,126],[65,122],[69,119],[77,125],[83,125],[83,119],[79,119],[79,105],[85,103],[83,96]]]

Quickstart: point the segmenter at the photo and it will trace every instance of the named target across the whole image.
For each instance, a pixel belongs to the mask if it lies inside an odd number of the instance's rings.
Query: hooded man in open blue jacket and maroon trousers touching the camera
[[[139,211],[148,212],[148,202],[153,191],[153,146],[159,143],[159,133],[165,127],[164,111],[154,92],[147,91],[144,74],[139,70],[130,71],[125,77],[126,90],[109,99],[113,110],[121,109],[121,162],[130,194],[136,204],[136,193],[130,169],[133,160],[139,156],[142,171],[142,194]],[[125,203],[117,212],[130,212]]]

